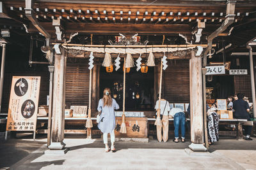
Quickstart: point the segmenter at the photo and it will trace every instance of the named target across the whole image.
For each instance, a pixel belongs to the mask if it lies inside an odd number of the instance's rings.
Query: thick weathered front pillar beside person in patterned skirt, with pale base
[[[203,123],[203,85],[202,85],[202,59],[191,52],[189,61],[190,75],[190,122],[191,145],[193,151],[205,151],[204,147],[204,123]]]

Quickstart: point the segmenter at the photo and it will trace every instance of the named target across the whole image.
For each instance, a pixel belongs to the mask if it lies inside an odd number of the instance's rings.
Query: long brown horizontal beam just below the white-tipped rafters
[[[40,22],[47,32],[55,33],[51,22]],[[216,30],[218,25],[207,25],[204,34],[209,34]],[[29,32],[37,32],[32,24],[28,25]],[[83,32],[95,34],[119,34],[134,33],[139,34],[191,34],[192,27],[188,24],[114,24],[114,23],[66,23],[65,32]]]

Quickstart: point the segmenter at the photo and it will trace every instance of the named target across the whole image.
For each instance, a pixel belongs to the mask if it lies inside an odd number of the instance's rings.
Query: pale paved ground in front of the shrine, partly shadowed
[[[0,145],[0,167],[10,169],[256,169],[253,141],[221,139],[209,152],[193,153],[186,143],[116,142],[104,153],[102,139],[65,138],[65,155],[45,155],[46,139],[10,139]]]

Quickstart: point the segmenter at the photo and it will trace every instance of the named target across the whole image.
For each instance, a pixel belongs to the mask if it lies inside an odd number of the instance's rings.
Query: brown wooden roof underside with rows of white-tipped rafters
[[[52,19],[60,18],[62,31],[66,36],[70,32],[84,34],[160,34],[173,35],[185,34],[192,39],[191,32],[197,22],[205,22],[205,29],[202,31],[202,42],[209,34],[215,31],[225,20],[227,1],[148,1],[148,0],[125,0],[125,1],[67,1],[67,0],[38,0],[33,3],[38,22],[51,34],[56,37],[55,28],[52,26]],[[25,2],[8,0],[3,2],[3,12],[0,17],[10,17],[15,22],[6,22],[6,18],[0,19],[2,27],[10,25],[28,27],[29,34],[38,31],[25,15]],[[234,24],[225,31],[224,39],[227,43],[240,46],[250,39],[256,37],[256,2],[252,0],[237,1],[236,17]],[[4,20],[4,22],[1,22]],[[18,25],[19,25],[18,24]],[[15,27],[13,26],[12,27]],[[230,36],[228,32],[234,27]],[[223,38],[217,38],[219,41]]]

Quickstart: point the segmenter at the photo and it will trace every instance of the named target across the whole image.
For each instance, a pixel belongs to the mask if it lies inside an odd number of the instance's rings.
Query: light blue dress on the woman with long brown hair
[[[111,133],[115,129],[115,110],[119,109],[115,99],[112,99],[112,106],[103,106],[103,99],[100,99],[98,111],[101,111],[98,127],[102,133]]]

